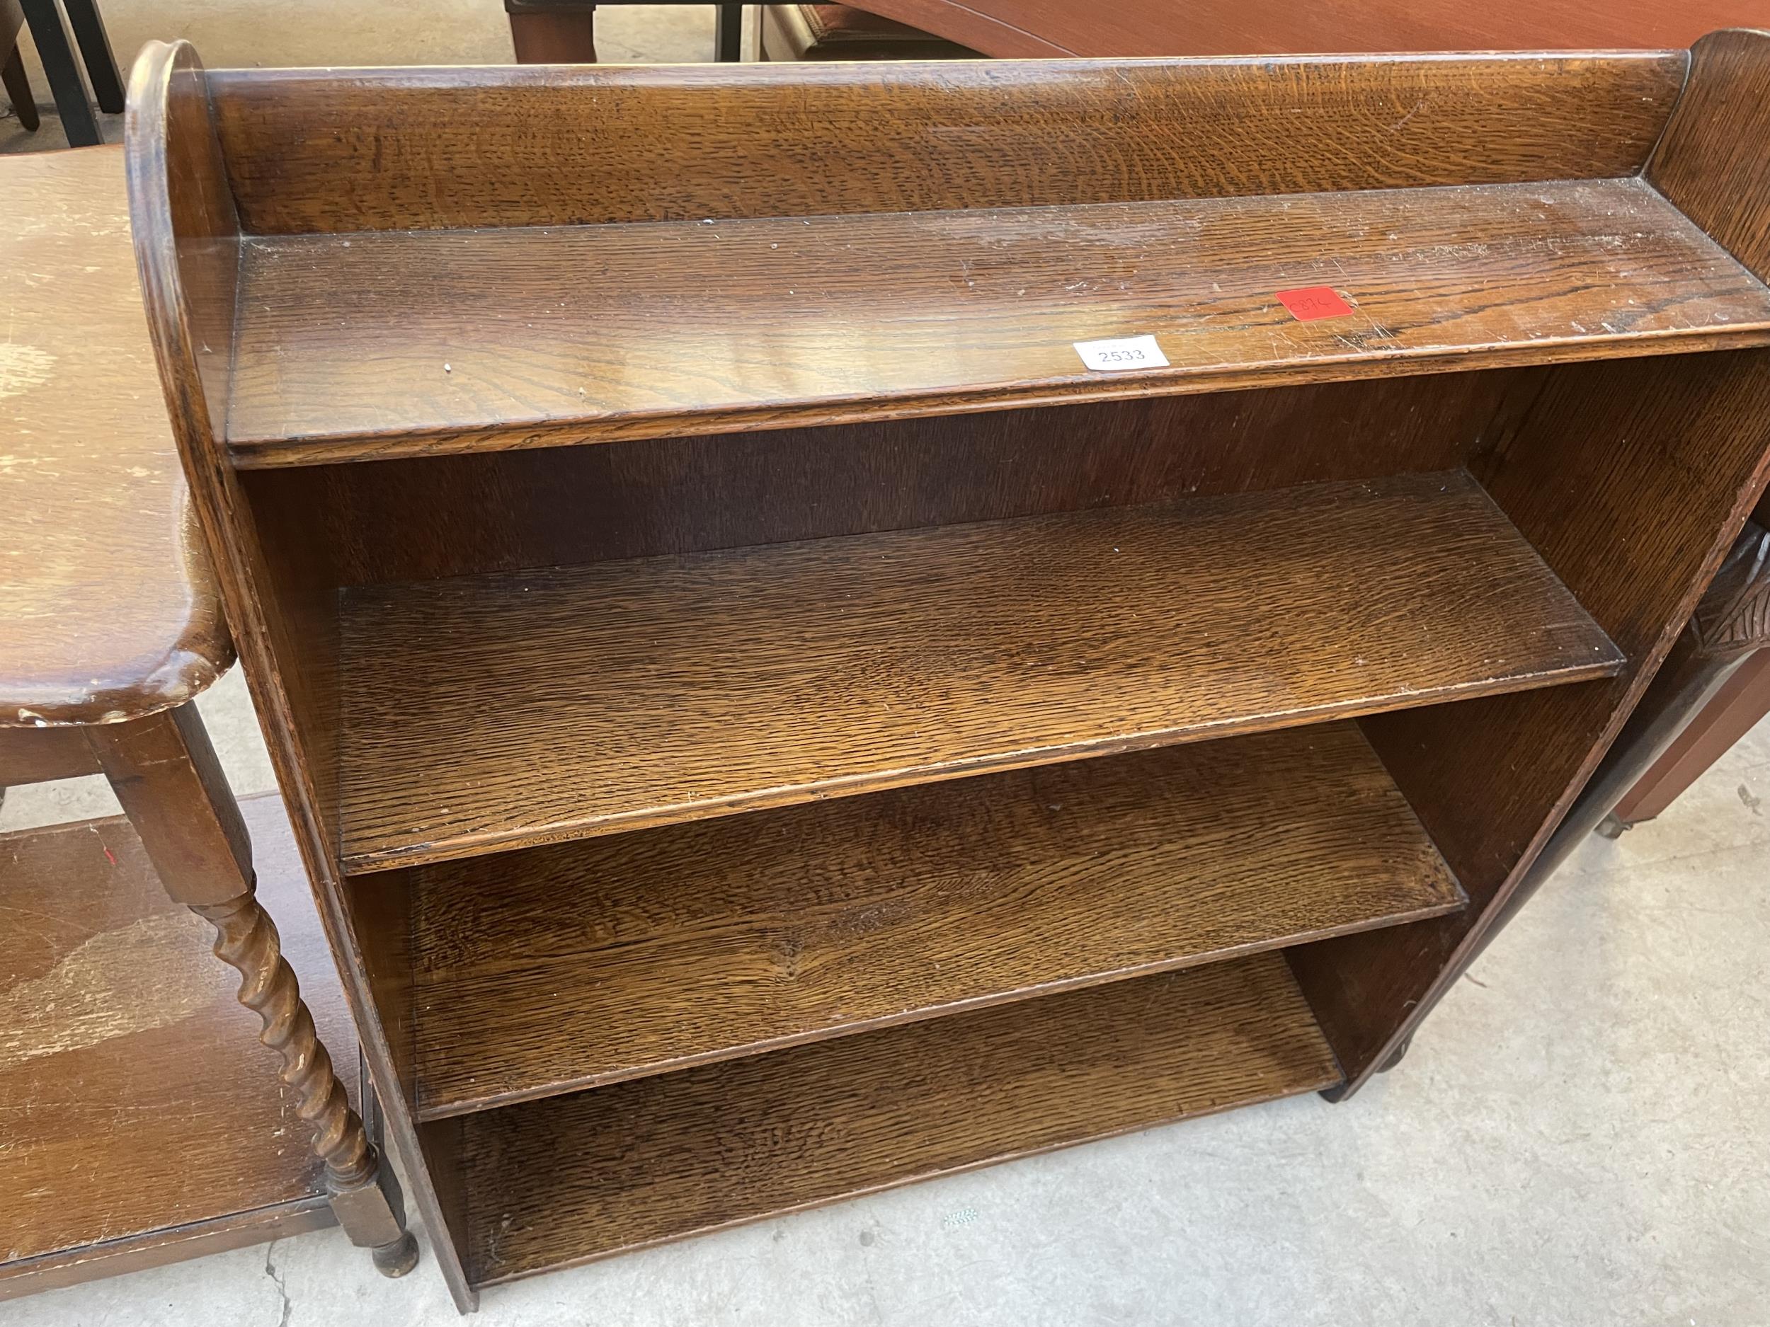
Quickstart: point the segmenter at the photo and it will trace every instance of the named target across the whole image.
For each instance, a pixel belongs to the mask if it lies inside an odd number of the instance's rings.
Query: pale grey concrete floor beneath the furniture
[[[189,35],[212,65],[510,58],[496,0],[432,0],[421,32],[354,0],[104,9],[119,53]],[[712,11],[611,9],[600,41],[710,58]],[[53,122],[30,142],[0,122],[0,150],[53,142]],[[273,787],[237,672],[200,706],[235,789]],[[1660,821],[1588,842],[1347,1106],[1276,1102],[559,1272],[487,1292],[480,1320],[1770,1323],[1765,803],[1770,724]],[[113,810],[94,780],[27,787],[0,828]],[[0,1304],[0,1327],[453,1318],[428,1254],[382,1281],[338,1231]]]

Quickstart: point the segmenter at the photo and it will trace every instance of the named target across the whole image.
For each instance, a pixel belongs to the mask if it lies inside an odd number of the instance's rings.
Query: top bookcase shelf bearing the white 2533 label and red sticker
[[[1634,179],[242,244],[242,465],[1770,343]]]

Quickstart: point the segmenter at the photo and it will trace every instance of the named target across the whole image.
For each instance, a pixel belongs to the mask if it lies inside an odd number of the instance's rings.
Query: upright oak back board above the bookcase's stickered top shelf
[[[1634,175],[1683,51],[237,69],[250,234],[917,212]]]

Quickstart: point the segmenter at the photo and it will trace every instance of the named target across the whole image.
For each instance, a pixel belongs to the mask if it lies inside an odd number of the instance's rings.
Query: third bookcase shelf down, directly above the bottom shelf
[[[412,890],[421,1116],[1462,901],[1354,724],[474,858]]]

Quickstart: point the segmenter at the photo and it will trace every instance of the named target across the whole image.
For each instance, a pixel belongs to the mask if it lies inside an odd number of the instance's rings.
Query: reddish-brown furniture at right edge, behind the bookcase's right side
[[[1770,499],[1745,531],[1662,671],[1678,685],[1662,688],[1655,679],[1655,697],[1664,699],[1653,710],[1667,713],[1655,727],[1664,748],[1634,752],[1630,771],[1639,777],[1598,833],[1614,839],[1658,816],[1770,715]]]

